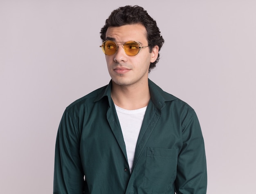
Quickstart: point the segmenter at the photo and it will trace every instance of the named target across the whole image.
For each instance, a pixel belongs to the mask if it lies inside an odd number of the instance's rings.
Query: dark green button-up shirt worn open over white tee
[[[131,173],[111,82],[66,108],[56,139],[54,194],[206,193],[204,140],[194,110],[148,82],[151,99]]]

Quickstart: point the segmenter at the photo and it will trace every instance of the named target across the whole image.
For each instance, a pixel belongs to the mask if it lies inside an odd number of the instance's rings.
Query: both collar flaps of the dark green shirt
[[[176,99],[175,96],[164,92],[159,86],[157,86],[154,82],[148,79],[148,86],[151,95],[151,100],[155,104],[155,106],[159,109],[164,108],[166,101],[172,101]],[[107,86],[104,86],[94,101],[99,101],[103,97],[108,97],[108,102],[112,101],[111,99],[111,87],[112,87],[112,80],[110,80]]]

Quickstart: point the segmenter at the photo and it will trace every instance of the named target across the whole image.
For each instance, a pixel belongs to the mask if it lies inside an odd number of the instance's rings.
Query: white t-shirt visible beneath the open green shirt
[[[117,105],[115,105],[115,108],[117,110],[117,116],[123,133],[124,142],[126,144],[126,154],[131,171],[136,143],[147,106],[136,110],[126,110],[118,107]]]

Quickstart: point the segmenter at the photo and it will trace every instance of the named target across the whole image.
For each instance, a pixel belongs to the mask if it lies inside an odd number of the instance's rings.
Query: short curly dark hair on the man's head
[[[147,11],[143,7],[137,5],[125,7],[119,7],[112,11],[105,25],[101,28],[101,40],[106,40],[106,31],[110,26],[123,26],[127,24],[142,24],[145,26],[147,31],[147,40],[150,52],[154,46],[159,47],[159,51],[164,44],[164,39],[160,34],[159,28],[157,27],[156,21],[148,15]],[[150,63],[149,72],[155,68],[156,63],[159,61],[159,53],[157,60]]]

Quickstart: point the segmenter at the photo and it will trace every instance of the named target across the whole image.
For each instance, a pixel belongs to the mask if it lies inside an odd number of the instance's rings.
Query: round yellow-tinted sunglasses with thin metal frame
[[[118,42],[119,43],[119,42]],[[105,40],[101,46],[101,49],[105,55],[114,55],[117,52],[118,45],[122,45],[126,55],[135,56],[140,53],[141,49],[148,46],[141,46],[137,41],[128,41],[124,44],[117,44],[117,42],[111,40]]]

